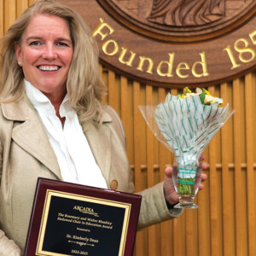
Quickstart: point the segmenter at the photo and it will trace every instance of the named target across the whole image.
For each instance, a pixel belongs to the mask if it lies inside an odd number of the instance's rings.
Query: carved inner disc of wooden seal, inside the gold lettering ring
[[[206,40],[230,32],[255,14],[253,0],[98,0],[124,26],[171,42]]]

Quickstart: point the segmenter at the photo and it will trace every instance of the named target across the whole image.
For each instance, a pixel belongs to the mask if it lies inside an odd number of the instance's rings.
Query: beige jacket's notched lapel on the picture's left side
[[[2,104],[3,116],[14,121],[12,137],[20,148],[23,148],[44,166],[49,168],[59,179],[61,171],[55,153],[36,110],[25,96],[20,102]]]

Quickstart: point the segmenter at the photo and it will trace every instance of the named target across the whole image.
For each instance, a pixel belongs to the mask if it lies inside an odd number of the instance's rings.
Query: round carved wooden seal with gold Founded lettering
[[[93,31],[100,61],[144,84],[206,86],[256,67],[255,0],[58,0]]]

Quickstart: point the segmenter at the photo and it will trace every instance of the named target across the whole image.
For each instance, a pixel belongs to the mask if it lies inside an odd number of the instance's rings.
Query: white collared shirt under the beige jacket
[[[79,124],[77,113],[71,108],[66,95],[60,107],[60,115],[66,117],[62,127],[55,108],[44,94],[25,80],[26,95],[42,120],[49,143],[58,160],[64,181],[107,189],[107,183],[90,150],[89,143]]]

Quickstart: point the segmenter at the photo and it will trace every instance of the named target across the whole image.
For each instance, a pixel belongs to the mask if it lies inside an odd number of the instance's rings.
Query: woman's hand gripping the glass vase
[[[204,156],[201,156],[201,160],[204,160]],[[202,162],[201,163],[202,169],[206,170],[209,165],[207,162]],[[171,205],[175,205],[178,202],[178,195],[175,190],[173,181],[172,181],[172,167],[166,167],[166,177],[164,180],[164,191],[165,191],[165,197],[166,201],[168,201]],[[206,173],[201,173],[201,182],[204,182],[207,179],[207,174]],[[203,189],[204,184],[200,184],[198,189]]]

